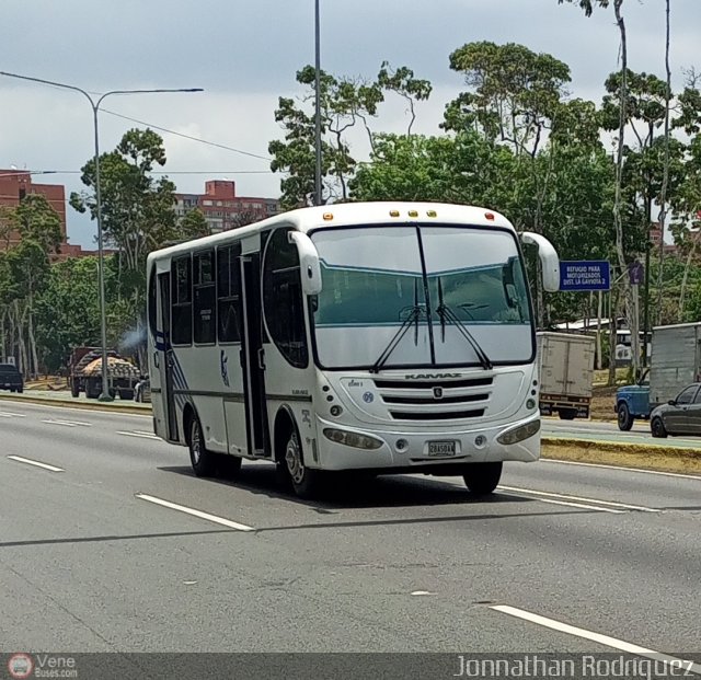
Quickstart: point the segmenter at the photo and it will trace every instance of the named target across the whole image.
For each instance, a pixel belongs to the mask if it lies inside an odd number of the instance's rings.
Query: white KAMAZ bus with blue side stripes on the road
[[[187,446],[198,476],[271,461],[301,497],[327,471],[459,475],[493,492],[503,461],[540,456],[518,237],[483,208],[378,201],[151,253],[156,434]],[[552,245],[520,240],[556,290]]]

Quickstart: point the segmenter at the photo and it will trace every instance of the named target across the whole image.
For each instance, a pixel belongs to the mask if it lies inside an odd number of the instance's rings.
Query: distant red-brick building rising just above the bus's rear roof
[[[211,180],[205,183],[204,194],[175,194],[175,214],[184,217],[199,208],[212,233],[262,220],[280,211],[276,198],[237,196],[235,182]]]

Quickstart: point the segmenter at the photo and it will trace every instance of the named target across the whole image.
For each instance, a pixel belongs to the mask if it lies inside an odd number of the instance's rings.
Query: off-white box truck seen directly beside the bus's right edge
[[[540,413],[564,420],[588,418],[594,385],[595,338],[541,331],[538,339]]]

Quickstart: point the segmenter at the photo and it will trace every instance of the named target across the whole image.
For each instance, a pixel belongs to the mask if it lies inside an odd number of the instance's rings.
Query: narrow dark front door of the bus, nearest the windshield
[[[251,456],[268,456],[263,311],[261,309],[261,255],[260,253],[244,254],[240,262],[243,308],[241,367],[243,369],[248,449]]]

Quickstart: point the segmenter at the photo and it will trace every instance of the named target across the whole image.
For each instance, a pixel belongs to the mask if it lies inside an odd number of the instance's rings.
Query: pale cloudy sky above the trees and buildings
[[[629,66],[664,78],[665,0],[625,0]],[[320,0],[321,67],[374,79],[382,61],[407,66],[433,93],[417,107],[414,131],[439,134],[447,102],[464,90],[448,67],[466,43],[519,43],[572,71],[573,97],[600,102],[617,69],[612,9],[585,18],[558,0]],[[701,71],[701,0],[671,1],[673,87]],[[233,180],[240,196],[277,197],[267,146],[283,131],[279,96],[301,96],[298,69],[314,61],[314,0],[23,0],[5,2],[0,71],[76,85],[92,93],[203,88],[104,100],[100,148],[115,148],[131,128],[158,126],[164,168],[183,193],[207,180]],[[119,117],[126,116],[141,123]],[[389,99],[374,129],[406,129],[405,106]],[[0,77],[0,168],[31,170],[34,182],[80,191],[80,168],[94,150],[92,110],[78,92]],[[367,158],[361,136],[356,158]],[[227,147],[221,148],[221,147]],[[243,152],[243,153],[242,153]],[[260,158],[262,157],[262,158]],[[49,174],[43,174],[47,173]],[[94,244],[95,224],[68,207],[68,235]]]

